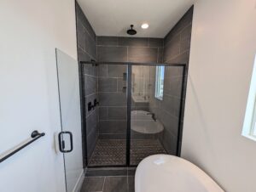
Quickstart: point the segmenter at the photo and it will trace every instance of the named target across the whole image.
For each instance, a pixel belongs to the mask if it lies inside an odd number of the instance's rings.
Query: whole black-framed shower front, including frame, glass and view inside
[[[80,62],[87,167],[177,155],[185,65]]]

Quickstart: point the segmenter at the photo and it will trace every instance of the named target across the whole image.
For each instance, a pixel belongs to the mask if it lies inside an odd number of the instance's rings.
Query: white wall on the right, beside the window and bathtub
[[[255,0],[195,3],[182,156],[230,192],[256,191],[256,143],[241,136],[255,54]]]

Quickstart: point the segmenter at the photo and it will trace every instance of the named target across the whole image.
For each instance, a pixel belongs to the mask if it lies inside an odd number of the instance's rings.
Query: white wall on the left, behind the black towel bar
[[[0,3],[0,154],[28,138],[44,138],[0,164],[0,191],[64,191],[55,48],[77,58],[73,0]]]

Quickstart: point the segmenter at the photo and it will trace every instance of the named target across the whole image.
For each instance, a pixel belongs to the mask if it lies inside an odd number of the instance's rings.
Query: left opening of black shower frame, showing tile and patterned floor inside
[[[99,102],[86,114],[88,166],[125,166],[127,65],[84,67],[86,107]],[[90,73],[93,68],[97,73]]]

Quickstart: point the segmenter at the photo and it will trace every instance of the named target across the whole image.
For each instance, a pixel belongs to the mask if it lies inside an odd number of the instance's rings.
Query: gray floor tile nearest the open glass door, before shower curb
[[[84,178],[80,192],[102,191],[105,177]]]

